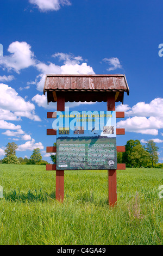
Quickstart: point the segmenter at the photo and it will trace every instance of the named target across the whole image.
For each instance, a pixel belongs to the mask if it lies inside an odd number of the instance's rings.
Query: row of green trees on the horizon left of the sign
[[[48,162],[45,160],[42,160],[42,156],[40,153],[40,149],[36,148],[33,150],[33,154],[30,156],[30,159],[27,157],[22,157],[17,158],[16,156],[16,150],[18,148],[18,145],[15,142],[8,143],[6,146],[6,149],[4,150],[5,152],[5,157],[4,159],[0,160],[0,163],[13,163],[13,164],[40,164],[40,165],[45,165]]]

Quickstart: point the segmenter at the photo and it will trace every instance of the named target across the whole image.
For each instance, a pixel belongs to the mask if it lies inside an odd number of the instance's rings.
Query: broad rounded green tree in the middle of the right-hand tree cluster
[[[137,144],[131,151],[129,158],[131,160],[131,166],[133,167],[147,167],[150,162],[149,153],[142,147],[141,144]]]

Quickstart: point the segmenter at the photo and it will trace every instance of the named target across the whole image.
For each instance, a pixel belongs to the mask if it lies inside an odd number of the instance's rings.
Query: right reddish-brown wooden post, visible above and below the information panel
[[[115,94],[108,95],[107,110],[115,111]],[[114,206],[117,202],[117,179],[116,170],[108,170],[108,200],[109,205]]]

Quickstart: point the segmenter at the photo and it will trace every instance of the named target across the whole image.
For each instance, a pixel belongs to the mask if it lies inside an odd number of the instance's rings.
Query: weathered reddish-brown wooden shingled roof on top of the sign
[[[107,101],[108,94],[115,93],[116,102],[123,102],[124,92],[129,95],[125,75],[46,75],[43,94],[48,102],[56,102],[58,95],[65,102]]]

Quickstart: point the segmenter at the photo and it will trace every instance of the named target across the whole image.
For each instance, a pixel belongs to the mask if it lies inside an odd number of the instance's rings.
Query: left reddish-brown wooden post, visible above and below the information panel
[[[65,111],[64,95],[57,95],[57,111]],[[55,198],[61,202],[64,200],[64,170],[56,170]]]

